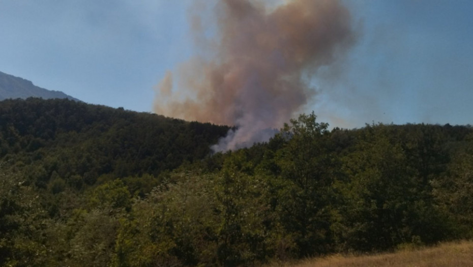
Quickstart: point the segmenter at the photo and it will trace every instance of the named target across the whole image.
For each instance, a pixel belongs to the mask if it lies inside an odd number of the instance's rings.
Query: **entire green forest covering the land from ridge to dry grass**
[[[69,100],[0,102],[0,264],[237,266],[473,237],[473,128],[228,127]]]

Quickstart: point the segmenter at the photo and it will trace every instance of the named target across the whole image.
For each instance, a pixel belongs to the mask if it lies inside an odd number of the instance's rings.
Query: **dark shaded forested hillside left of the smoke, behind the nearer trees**
[[[228,127],[189,123],[70,100],[0,102],[0,158],[46,188],[157,176],[209,156]]]

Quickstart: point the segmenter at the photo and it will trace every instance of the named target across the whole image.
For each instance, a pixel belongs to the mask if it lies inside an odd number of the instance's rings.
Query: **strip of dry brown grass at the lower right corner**
[[[444,243],[435,247],[418,250],[403,250],[390,254],[371,256],[343,256],[332,255],[324,258],[307,259],[290,264],[274,264],[274,267],[365,267],[365,266],[395,266],[395,267],[439,267],[473,266],[473,242],[462,241]]]

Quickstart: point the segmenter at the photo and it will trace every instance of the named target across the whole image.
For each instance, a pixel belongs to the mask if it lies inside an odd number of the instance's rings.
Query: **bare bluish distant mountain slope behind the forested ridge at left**
[[[0,72],[0,100],[4,99],[26,99],[28,97],[38,97],[43,99],[67,98],[79,101],[60,91],[51,91],[33,84],[33,82],[20,77]]]

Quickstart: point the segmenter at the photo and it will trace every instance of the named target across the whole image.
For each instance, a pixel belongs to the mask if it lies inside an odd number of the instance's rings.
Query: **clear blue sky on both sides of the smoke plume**
[[[195,1],[0,0],[0,71],[88,103],[152,112],[154,87],[194,51]],[[342,3],[359,37],[332,66],[337,74],[317,71],[308,112],[343,128],[473,124],[473,1]]]

